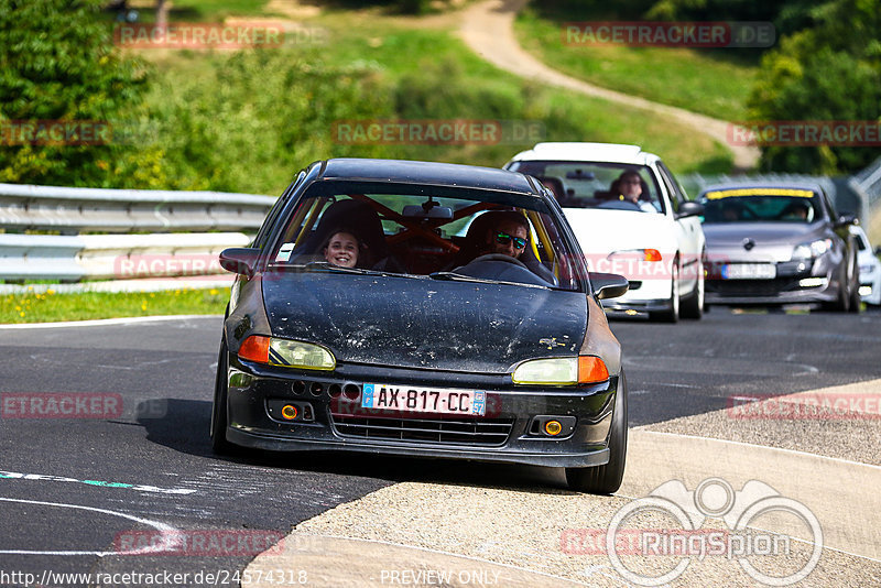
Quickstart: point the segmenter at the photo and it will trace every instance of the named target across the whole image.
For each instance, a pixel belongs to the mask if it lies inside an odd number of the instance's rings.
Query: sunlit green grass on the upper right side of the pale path
[[[746,101],[758,70],[755,52],[567,45],[563,42],[563,23],[578,19],[542,15],[534,6],[518,15],[514,30],[521,45],[546,65],[655,102],[722,120],[746,118]],[[602,14],[581,20],[616,19]]]

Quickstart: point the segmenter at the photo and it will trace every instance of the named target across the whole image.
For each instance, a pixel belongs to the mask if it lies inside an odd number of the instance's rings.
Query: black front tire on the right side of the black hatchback
[[[614,395],[612,426],[609,431],[609,462],[592,468],[566,468],[572,490],[591,494],[611,494],[621,488],[627,461],[627,379],[621,370]]]

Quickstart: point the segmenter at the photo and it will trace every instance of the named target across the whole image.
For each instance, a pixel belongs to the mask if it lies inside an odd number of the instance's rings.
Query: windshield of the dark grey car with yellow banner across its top
[[[819,198],[806,189],[709,190],[700,198],[704,222],[796,222],[822,218]]]

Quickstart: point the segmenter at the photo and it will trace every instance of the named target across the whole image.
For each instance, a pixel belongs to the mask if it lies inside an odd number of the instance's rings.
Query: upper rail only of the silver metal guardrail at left
[[[273,196],[0,184],[0,228],[63,233],[255,231]]]

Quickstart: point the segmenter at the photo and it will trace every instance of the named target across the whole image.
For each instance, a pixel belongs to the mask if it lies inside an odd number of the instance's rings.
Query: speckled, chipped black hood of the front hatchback
[[[403,368],[504,373],[577,355],[587,325],[586,294],[505,284],[285,273],[264,276],[263,301],[273,336]]]

